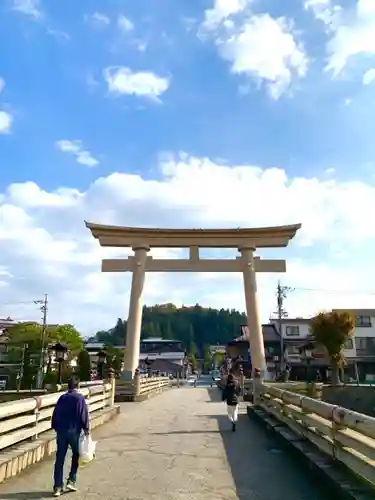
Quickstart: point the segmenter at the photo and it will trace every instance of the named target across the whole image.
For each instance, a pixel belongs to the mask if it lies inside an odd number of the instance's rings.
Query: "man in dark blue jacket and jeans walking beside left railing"
[[[64,462],[69,446],[72,449],[72,464],[66,487],[69,491],[76,491],[79,438],[82,431],[86,435],[90,433],[87,403],[78,388],[78,377],[72,377],[68,382],[68,392],[60,396],[52,415],[52,429],[56,431],[55,497],[59,497],[63,491]]]

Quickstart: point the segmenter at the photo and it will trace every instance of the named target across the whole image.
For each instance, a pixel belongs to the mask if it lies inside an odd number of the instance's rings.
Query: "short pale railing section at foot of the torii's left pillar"
[[[172,387],[169,377],[140,377],[133,380],[118,380],[116,384],[117,401],[143,401]]]

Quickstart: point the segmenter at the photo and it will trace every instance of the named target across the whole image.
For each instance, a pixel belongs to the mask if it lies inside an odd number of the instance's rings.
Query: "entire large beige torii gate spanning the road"
[[[127,259],[103,259],[102,272],[131,271],[129,315],[124,357],[125,379],[138,368],[142,325],[142,292],[146,272],[241,272],[243,275],[249,343],[253,369],[267,373],[263,332],[258,307],[256,272],[285,272],[285,260],[262,260],[257,248],[286,247],[301,224],[252,229],[158,229],[107,226],[85,222],[103,247],[130,247]],[[151,248],[189,248],[189,259],[154,259]],[[235,259],[200,259],[199,248],[236,248]]]

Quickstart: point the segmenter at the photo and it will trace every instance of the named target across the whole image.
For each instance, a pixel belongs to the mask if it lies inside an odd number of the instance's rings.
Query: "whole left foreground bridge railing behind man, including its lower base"
[[[92,428],[118,413],[114,404],[115,381],[82,384]],[[63,392],[0,404],[0,483],[39,462],[55,450],[51,417]]]

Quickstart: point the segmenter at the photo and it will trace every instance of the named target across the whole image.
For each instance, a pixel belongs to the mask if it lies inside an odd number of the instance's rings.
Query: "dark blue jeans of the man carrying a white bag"
[[[62,488],[64,484],[64,462],[68,448],[72,449],[72,465],[69,480],[76,482],[79,461],[79,433],[76,431],[58,432],[56,436],[56,461],[54,471],[54,486]]]

